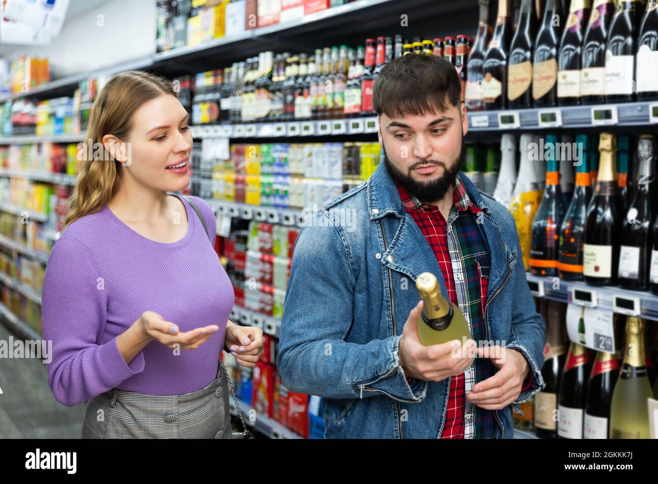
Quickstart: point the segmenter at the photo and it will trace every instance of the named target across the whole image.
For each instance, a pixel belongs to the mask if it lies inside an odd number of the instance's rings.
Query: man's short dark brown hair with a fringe
[[[393,59],[372,85],[372,109],[390,118],[459,107],[460,97],[461,81],[455,66],[426,53]]]

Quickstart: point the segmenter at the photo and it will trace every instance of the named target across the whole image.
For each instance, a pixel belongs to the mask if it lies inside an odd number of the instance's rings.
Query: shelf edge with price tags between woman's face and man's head
[[[344,134],[374,134],[377,130],[377,117],[373,116],[324,119],[321,121],[278,121],[191,126],[192,137],[196,139],[338,136]]]

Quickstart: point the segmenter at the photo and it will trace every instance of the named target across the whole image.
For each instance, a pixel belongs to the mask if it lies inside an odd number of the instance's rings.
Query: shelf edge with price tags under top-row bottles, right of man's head
[[[652,112],[658,115],[658,101],[475,111],[468,113],[468,131],[644,126],[658,121],[650,115]],[[544,122],[540,123],[540,115],[544,116]],[[601,119],[595,121],[594,117]]]

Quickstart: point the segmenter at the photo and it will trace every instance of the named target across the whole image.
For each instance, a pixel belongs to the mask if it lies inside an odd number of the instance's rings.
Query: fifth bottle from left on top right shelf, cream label
[[[557,103],[561,106],[580,104],[581,49],[589,13],[590,0],[571,0],[557,61]]]

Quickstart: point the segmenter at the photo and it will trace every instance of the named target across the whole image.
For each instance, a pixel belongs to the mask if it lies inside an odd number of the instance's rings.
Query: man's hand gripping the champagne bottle
[[[442,381],[451,375],[463,373],[473,359],[468,358],[468,355],[475,354],[476,342],[472,339],[467,340],[465,358],[460,358],[463,352],[459,340],[431,346],[422,344],[418,338],[418,316],[422,311],[422,305],[421,299],[416,307],[411,309],[400,338],[397,354],[405,375],[419,380]],[[457,356],[452,355],[453,350]]]

